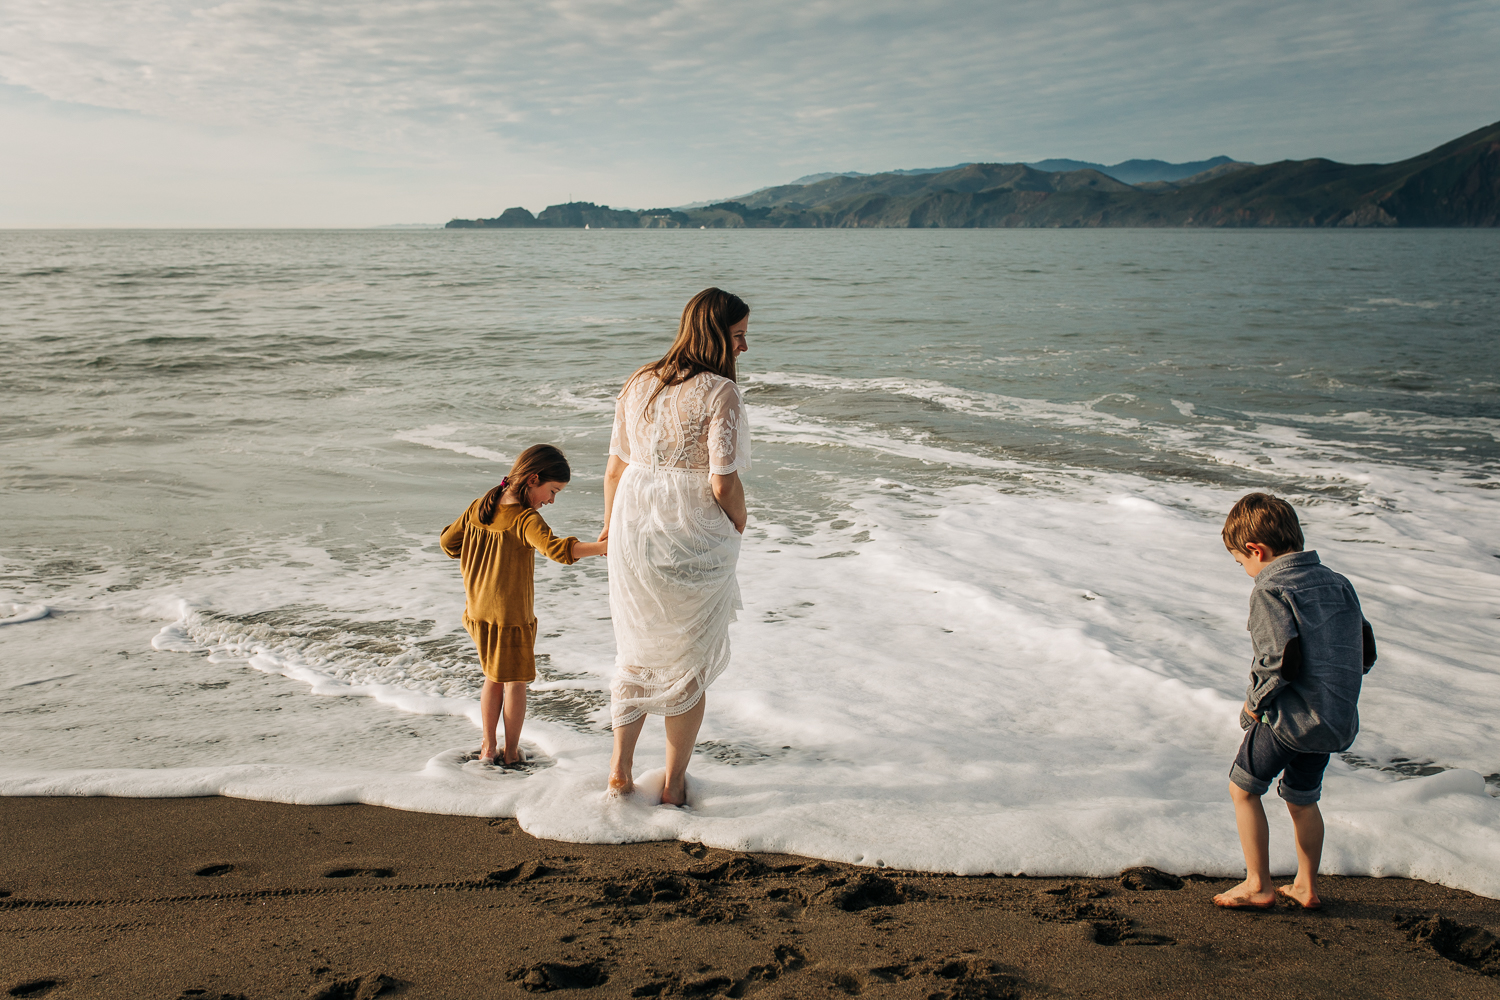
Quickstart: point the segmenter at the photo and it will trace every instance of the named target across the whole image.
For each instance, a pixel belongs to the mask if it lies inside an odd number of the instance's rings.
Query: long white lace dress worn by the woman
[[[729,666],[740,532],[710,474],[750,468],[740,387],[711,373],[669,385],[652,375],[615,402],[609,453],[628,462],[609,519],[609,613],[615,622],[610,721],[681,715]]]

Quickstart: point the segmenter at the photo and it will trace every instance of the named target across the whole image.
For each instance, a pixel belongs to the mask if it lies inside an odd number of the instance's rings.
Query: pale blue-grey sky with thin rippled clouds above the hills
[[[0,0],[0,226],[650,208],[966,160],[1406,159],[1496,0]]]

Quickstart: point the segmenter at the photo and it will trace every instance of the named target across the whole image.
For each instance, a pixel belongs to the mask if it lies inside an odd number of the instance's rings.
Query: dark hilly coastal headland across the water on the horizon
[[[1066,163],[1066,162],[1059,162]],[[1052,165],[1052,163],[1047,163]],[[806,178],[804,178],[806,180]],[[588,201],[538,214],[453,219],[450,229],[1497,226],[1500,123],[1396,163],[1218,163],[1130,184],[1098,169],[964,163],[939,172],[836,174],[681,208]]]

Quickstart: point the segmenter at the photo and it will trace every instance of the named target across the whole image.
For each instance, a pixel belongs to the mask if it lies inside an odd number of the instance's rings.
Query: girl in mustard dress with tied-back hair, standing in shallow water
[[[520,760],[520,726],[526,721],[526,684],[537,679],[537,616],[532,604],[536,553],[573,564],[602,556],[606,541],[558,538],[537,513],[573,478],[567,459],[549,444],[520,453],[500,486],[470,504],[442,529],[442,552],[464,570],[464,628],[474,639],[484,670],[478,705],[484,763]],[[496,762],[495,730],[506,720],[504,757]]]

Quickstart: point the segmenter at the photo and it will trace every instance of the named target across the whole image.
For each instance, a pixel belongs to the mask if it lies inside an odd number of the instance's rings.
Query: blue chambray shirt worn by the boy
[[[1316,552],[1288,552],[1256,576],[1250,592],[1250,690],[1245,703],[1278,742],[1304,753],[1348,750],[1359,733],[1359,685],[1366,657],[1365,622],[1353,585]],[[1287,657],[1287,646],[1298,640]],[[1240,724],[1248,727],[1240,712]]]

